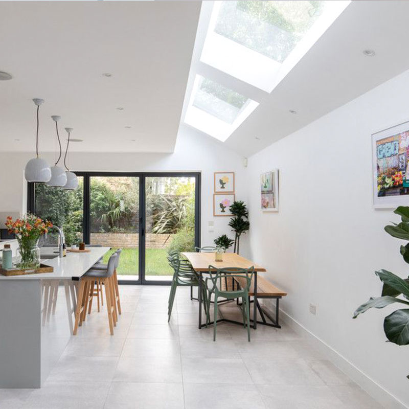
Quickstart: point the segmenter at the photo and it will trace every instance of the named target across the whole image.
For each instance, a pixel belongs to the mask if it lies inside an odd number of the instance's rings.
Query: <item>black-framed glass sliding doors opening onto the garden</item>
[[[121,284],[169,284],[168,251],[200,246],[200,174],[75,173],[74,192],[29,184],[29,211],[62,225],[69,245],[111,247],[105,262],[122,248]]]

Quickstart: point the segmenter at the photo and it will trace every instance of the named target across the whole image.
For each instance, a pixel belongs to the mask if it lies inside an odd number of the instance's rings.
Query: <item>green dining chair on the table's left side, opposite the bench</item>
[[[199,286],[199,277],[192,268],[192,265],[188,260],[180,259],[180,256],[177,252],[170,253],[168,255],[168,262],[169,265],[173,268],[173,277],[172,277],[172,284],[170,286],[170,293],[169,293],[169,302],[168,302],[168,322],[170,321],[170,317],[172,315],[173,303],[176,296],[176,289],[179,286],[190,286],[190,287],[198,287]],[[205,306],[206,316],[207,313],[207,291],[205,288],[205,283],[202,280],[202,298],[203,298],[203,305]]]

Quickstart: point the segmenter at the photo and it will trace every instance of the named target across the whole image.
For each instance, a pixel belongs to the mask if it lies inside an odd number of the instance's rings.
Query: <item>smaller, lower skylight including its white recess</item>
[[[258,103],[209,78],[196,76],[185,123],[225,141]]]

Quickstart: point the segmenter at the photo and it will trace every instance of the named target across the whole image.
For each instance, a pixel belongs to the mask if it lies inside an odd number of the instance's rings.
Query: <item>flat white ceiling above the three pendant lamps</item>
[[[0,81],[0,151],[34,151],[31,99],[43,98],[40,152],[56,147],[51,115],[64,140],[65,126],[84,140],[74,151],[171,152],[199,12],[200,2],[0,2],[0,71],[13,76]]]

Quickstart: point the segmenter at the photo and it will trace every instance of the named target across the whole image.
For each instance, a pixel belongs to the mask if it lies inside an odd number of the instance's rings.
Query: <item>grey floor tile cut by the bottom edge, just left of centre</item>
[[[181,383],[112,382],[104,409],[184,409]]]

